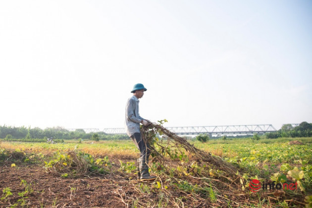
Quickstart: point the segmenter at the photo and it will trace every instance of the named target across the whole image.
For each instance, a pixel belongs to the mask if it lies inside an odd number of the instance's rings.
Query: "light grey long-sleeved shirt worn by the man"
[[[134,133],[140,133],[140,122],[144,120],[139,114],[139,102],[137,97],[132,96],[126,105],[125,128],[129,137]]]

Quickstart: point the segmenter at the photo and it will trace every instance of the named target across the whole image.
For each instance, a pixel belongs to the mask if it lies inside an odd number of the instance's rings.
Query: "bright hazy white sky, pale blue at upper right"
[[[311,0],[0,1],[0,125],[312,122]]]

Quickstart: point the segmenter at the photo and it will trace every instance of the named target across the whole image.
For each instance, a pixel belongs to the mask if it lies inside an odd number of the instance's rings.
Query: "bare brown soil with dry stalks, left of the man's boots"
[[[10,187],[13,196],[1,207],[20,204],[17,193],[25,190],[21,179],[31,184],[33,192],[27,194],[25,207],[125,207],[122,197],[136,197],[127,184],[138,183],[119,175],[105,177],[82,177],[77,179],[52,177],[43,167],[24,166],[19,168],[2,167],[1,187]],[[150,196],[147,196],[150,198]],[[19,206],[18,206],[19,207]]]

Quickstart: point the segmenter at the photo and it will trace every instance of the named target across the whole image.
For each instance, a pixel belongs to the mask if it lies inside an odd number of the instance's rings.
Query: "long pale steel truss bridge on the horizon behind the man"
[[[297,125],[297,124],[293,124]],[[185,127],[165,127],[177,135],[237,135],[237,134],[264,134],[275,132],[276,129],[271,124],[259,125],[230,125],[230,126],[185,126]],[[67,129],[75,131],[76,129]],[[100,129],[83,129],[86,133],[105,132],[106,134],[125,134],[124,128],[104,128]]]

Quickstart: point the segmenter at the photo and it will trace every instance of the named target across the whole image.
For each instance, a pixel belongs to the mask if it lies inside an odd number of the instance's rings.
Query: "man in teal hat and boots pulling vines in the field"
[[[144,144],[144,141],[141,138],[140,123],[144,126],[149,125],[149,121],[142,118],[139,114],[139,99],[143,97],[144,92],[147,89],[143,84],[135,84],[131,93],[133,96],[128,99],[126,105],[126,131],[128,136],[132,139],[134,144],[140,150],[140,158],[138,162],[138,179],[141,180],[154,180],[156,177],[151,176],[149,173],[149,162],[150,151],[147,149],[148,144]]]

